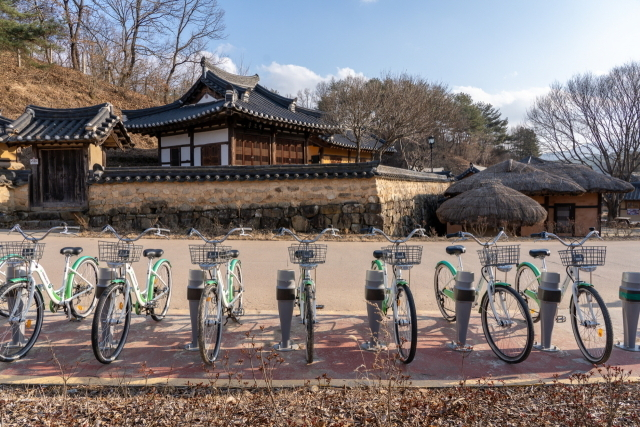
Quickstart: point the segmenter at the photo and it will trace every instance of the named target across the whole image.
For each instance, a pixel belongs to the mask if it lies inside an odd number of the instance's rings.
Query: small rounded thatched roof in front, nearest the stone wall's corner
[[[486,221],[489,227],[534,225],[547,217],[538,202],[496,180],[483,180],[473,190],[447,200],[436,214],[443,223]]]

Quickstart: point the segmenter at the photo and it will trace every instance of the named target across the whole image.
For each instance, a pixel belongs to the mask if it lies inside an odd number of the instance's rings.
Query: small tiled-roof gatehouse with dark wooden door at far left
[[[30,105],[6,124],[8,152],[31,147],[30,209],[87,207],[87,175],[104,166],[104,149],[132,146],[111,104],[55,109]]]

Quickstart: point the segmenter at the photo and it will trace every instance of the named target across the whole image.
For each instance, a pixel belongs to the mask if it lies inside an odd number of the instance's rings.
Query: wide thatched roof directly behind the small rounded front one
[[[572,179],[552,174],[524,163],[505,160],[456,182],[445,191],[445,195],[454,196],[464,193],[478,187],[481,181],[486,180],[497,180],[503,185],[528,196],[578,195],[586,193],[586,190]]]

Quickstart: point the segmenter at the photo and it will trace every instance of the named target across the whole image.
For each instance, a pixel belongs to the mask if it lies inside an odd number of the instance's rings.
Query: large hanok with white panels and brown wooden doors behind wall
[[[124,110],[131,133],[154,136],[162,166],[354,162],[356,146],[323,123],[322,112],[296,105],[259,84],[201,62],[200,79],[177,101]],[[369,161],[376,142],[363,144]]]

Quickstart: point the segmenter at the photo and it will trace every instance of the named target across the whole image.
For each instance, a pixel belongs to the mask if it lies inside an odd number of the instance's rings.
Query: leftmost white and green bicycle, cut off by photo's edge
[[[79,227],[64,224],[34,237],[15,225],[9,233],[18,232],[25,240],[0,243],[0,271],[4,276],[0,288],[0,361],[21,359],[35,345],[42,329],[43,290],[50,299],[50,311],[56,313],[62,308],[70,320],[87,317],[95,307],[98,280],[95,258],[83,256],[70,266],[71,257],[80,255],[82,248],[62,248],[60,254],[65,256],[65,264],[59,289],[54,289],[44,267],[38,263],[44,254],[44,243],[39,242],[57,230],[71,235],[74,233],[70,230]]]

